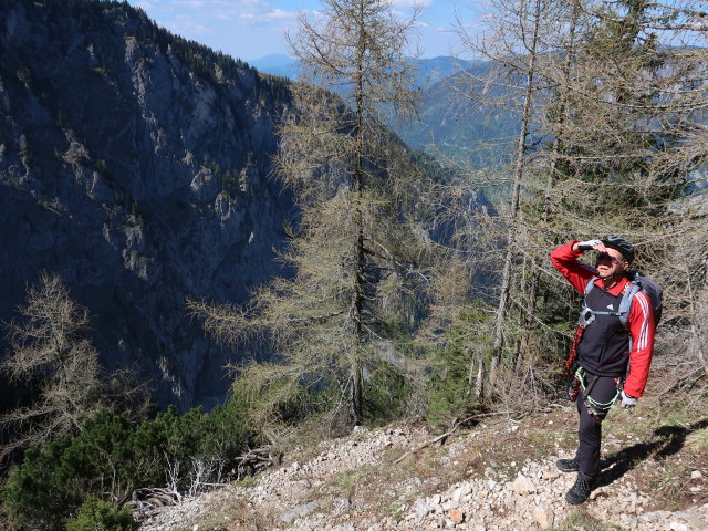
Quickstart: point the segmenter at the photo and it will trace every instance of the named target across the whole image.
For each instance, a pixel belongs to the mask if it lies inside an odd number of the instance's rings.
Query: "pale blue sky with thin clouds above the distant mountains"
[[[294,28],[299,10],[321,9],[317,0],[128,0],[159,25],[186,39],[246,61],[272,53],[289,53],[283,32]],[[470,6],[479,0],[393,0],[405,17],[414,4],[421,8],[418,41],[424,58],[455,51],[451,32],[456,11],[471,22]]]

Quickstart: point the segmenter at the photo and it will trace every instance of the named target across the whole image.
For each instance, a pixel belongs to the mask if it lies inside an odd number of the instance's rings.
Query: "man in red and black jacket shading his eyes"
[[[596,251],[595,268],[577,259]],[[654,313],[649,296],[638,291],[632,299],[626,324],[620,303],[631,289],[627,269],[634,260],[632,243],[608,236],[603,240],[572,241],[551,253],[551,262],[580,293],[585,303],[573,341],[571,369],[580,415],[577,451],[573,459],[560,459],[558,468],[577,471],[575,485],[565,493],[572,504],[587,500],[600,471],[602,421],[612,404],[636,406],[644,393],[654,351]],[[586,292],[591,279],[592,288]]]

